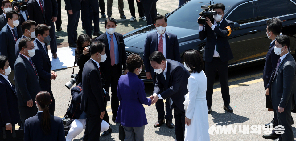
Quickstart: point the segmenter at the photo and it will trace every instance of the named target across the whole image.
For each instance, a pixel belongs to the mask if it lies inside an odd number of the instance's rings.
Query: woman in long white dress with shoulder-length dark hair
[[[184,54],[184,66],[191,73],[188,78],[188,94],[185,95],[185,141],[209,141],[209,118],[206,99],[207,77],[204,61],[197,50]]]

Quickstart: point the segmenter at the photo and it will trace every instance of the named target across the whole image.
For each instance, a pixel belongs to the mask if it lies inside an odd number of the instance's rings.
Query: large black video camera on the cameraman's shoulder
[[[217,12],[213,10],[214,4],[211,5],[211,1],[210,1],[210,5],[202,5],[200,6],[201,9],[204,9],[203,11],[201,11],[199,13],[199,15],[201,16],[201,18],[199,18],[197,20],[197,23],[200,25],[205,25],[207,22],[206,17],[208,17],[210,20],[213,18],[214,15],[217,15]]]

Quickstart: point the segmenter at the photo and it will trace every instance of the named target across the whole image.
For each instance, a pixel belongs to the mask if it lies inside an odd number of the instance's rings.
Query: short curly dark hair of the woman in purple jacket
[[[143,60],[139,55],[132,54],[126,60],[126,67],[129,72],[134,72],[136,68],[140,68],[143,64]]]

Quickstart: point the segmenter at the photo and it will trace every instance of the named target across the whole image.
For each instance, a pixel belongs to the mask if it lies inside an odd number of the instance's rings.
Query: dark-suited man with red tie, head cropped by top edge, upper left
[[[30,20],[38,24],[50,26],[50,50],[53,58],[57,58],[57,44],[55,37],[55,24],[58,15],[58,3],[56,0],[30,0],[27,6]],[[46,11],[46,12],[45,12]],[[47,44],[46,44],[47,47]]]

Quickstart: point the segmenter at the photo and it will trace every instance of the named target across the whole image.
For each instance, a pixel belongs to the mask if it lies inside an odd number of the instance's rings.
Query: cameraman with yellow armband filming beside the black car
[[[225,10],[224,4],[215,4],[213,10],[217,12],[217,14],[213,16],[214,19],[206,17],[206,24],[199,25],[198,34],[200,40],[207,38],[203,60],[205,61],[205,74],[207,76],[206,97],[208,114],[211,113],[216,71],[218,71],[221,83],[221,92],[224,101],[223,109],[228,112],[233,112],[232,108],[229,106],[230,95],[228,87],[228,61],[233,59],[233,54],[228,39],[233,30],[234,23],[223,19]]]

